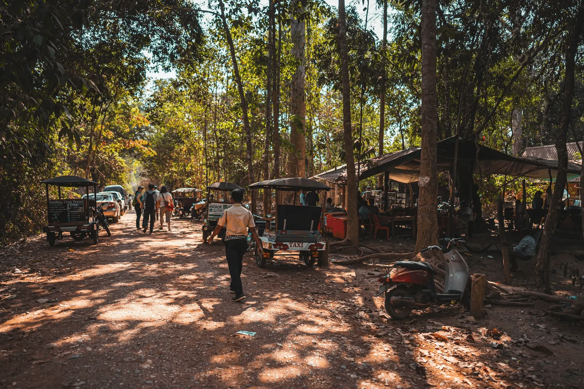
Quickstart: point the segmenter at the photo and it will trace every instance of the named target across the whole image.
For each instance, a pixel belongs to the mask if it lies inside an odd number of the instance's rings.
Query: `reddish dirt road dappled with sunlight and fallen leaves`
[[[97,245],[0,252],[0,388],[582,387],[579,329],[540,311],[474,322],[453,305],[394,322],[370,269],[259,269],[251,255],[247,301],[233,303],[223,245],[202,244],[200,223],[134,223]]]

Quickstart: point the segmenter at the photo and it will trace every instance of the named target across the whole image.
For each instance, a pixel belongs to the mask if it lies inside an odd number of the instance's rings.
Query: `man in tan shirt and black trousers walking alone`
[[[244,191],[234,189],[231,192],[231,208],[223,212],[223,216],[217,222],[217,227],[209,237],[207,243],[211,244],[213,238],[225,227],[225,258],[231,275],[230,293],[235,293],[231,299],[233,301],[244,300],[245,294],[241,284],[241,269],[244,260],[244,254],[248,249],[248,228],[256,241],[258,255],[263,255],[262,242],[259,240],[258,233],[255,230],[252,213],[241,205],[244,198]]]

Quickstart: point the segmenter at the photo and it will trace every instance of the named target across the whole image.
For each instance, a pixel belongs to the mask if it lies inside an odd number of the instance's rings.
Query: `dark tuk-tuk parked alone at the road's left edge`
[[[95,218],[95,198],[89,198],[89,186],[93,186],[93,193],[98,193],[97,182],[78,176],[61,176],[50,178],[44,181],[47,193],[47,216],[48,225],[43,227],[43,232],[47,234],[48,245],[54,246],[57,239],[63,238],[63,232],[69,232],[71,238],[81,241],[88,236],[93,243],[98,242],[98,220]],[[54,185],[58,188],[58,199],[50,199],[48,186]],[[61,187],[83,187],[85,186],[85,199],[62,199]]]

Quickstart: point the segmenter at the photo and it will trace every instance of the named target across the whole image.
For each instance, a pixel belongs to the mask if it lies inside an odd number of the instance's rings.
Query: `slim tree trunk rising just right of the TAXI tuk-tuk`
[[[345,140],[345,163],[347,164],[347,240],[359,241],[357,220],[357,178],[353,157],[353,128],[351,126],[351,86],[349,84],[349,48],[345,20],[345,0],[339,0],[339,51],[340,74],[343,87],[343,134]]]

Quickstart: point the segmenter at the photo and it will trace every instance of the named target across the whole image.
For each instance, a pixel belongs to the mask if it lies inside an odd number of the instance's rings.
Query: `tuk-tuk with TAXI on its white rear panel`
[[[306,266],[312,267],[318,260],[319,266],[328,263],[328,245],[321,242],[321,228],[324,227],[324,206],[326,197],[321,196],[321,206],[302,206],[297,202],[298,190],[331,190],[321,182],[308,178],[280,178],[266,180],[249,185],[250,189],[272,189],[276,191],[276,215],[263,218],[265,227],[263,231],[258,221],[258,235],[262,241],[263,255],[255,252],[256,264],[263,268],[268,258],[279,255],[289,255],[290,251],[297,251],[300,259]],[[294,192],[293,204],[280,204],[281,197],[278,192]],[[252,199],[253,199],[252,195]]]

